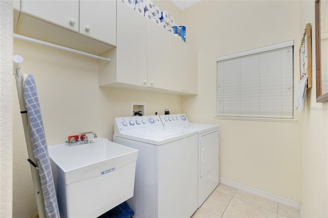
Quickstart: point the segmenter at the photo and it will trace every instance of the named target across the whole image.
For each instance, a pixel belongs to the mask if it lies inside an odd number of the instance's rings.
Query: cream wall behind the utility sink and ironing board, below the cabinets
[[[35,78],[48,145],[86,131],[112,140],[114,118],[131,116],[131,102],[146,102],[146,115],[181,111],[180,96],[99,88],[98,60],[18,39],[14,54],[24,58],[23,72]],[[16,89],[13,111],[13,217],[27,217],[36,204]]]

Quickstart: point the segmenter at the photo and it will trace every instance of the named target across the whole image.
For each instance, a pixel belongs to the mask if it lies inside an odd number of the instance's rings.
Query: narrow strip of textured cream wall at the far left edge
[[[12,26],[11,1],[0,1],[0,217],[12,217]]]

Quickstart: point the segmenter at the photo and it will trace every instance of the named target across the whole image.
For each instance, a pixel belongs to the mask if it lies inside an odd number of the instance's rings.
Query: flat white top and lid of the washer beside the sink
[[[161,127],[160,129],[151,127],[142,129],[129,129],[122,130],[119,133],[123,138],[154,145],[166,144],[197,134],[195,130],[173,127]]]

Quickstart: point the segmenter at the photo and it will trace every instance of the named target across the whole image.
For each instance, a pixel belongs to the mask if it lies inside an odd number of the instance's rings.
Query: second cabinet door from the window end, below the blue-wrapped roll
[[[170,35],[170,90],[185,90],[185,43]]]

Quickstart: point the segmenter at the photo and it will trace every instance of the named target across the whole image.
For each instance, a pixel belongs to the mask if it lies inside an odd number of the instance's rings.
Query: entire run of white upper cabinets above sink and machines
[[[14,0],[13,6],[14,33],[110,57],[99,63],[101,86],[197,94],[197,51],[121,0]]]

